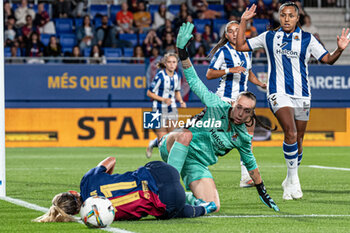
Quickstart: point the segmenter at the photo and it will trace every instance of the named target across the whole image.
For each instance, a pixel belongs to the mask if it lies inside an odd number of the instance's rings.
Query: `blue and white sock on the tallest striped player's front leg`
[[[283,142],[284,158],[287,163],[287,178],[298,175],[298,143],[287,144]]]

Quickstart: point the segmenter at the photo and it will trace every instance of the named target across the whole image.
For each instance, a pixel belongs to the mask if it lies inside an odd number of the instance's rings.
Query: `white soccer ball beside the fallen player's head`
[[[85,200],[80,209],[80,216],[86,226],[103,228],[114,220],[112,202],[103,196],[93,196]]]

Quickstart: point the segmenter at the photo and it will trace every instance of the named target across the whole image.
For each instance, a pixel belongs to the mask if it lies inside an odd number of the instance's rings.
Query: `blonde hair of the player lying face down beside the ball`
[[[77,214],[81,206],[81,202],[77,200],[73,194],[66,192],[57,194],[52,199],[52,206],[49,211],[33,219],[33,222],[76,222],[74,214]]]

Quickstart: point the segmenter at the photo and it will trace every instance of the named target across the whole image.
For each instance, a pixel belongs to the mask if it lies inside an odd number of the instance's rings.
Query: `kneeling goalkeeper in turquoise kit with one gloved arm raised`
[[[186,80],[206,109],[191,121],[189,127],[175,130],[162,138],[159,144],[161,157],[179,171],[186,188],[192,191],[187,193],[189,204],[214,201],[219,211],[219,194],[208,166],[217,163],[218,156],[224,156],[236,148],[255,183],[261,201],[279,211],[266,192],[251,151],[252,136],[246,128],[246,124],[255,119],[256,98],[251,92],[242,92],[231,106],[208,90],[194,70],[186,50],[193,37],[193,27],[191,23],[184,23],[180,27],[176,47]]]

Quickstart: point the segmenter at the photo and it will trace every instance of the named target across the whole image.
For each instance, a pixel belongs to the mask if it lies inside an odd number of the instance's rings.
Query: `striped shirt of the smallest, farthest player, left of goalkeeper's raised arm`
[[[149,90],[162,98],[170,98],[172,103],[167,106],[166,103],[154,100],[153,111],[159,110],[160,113],[170,113],[176,108],[175,91],[181,90],[181,83],[176,71],[170,77],[165,69],[160,70],[154,77]]]

